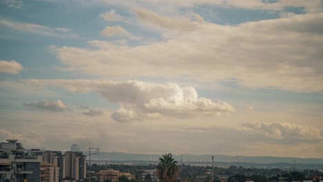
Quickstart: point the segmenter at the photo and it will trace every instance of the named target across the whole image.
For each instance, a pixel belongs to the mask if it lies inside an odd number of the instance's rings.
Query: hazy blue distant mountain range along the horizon
[[[87,154],[88,152],[84,152]],[[214,162],[215,165],[237,165],[237,156],[219,155],[215,154]],[[117,163],[157,163],[160,154],[127,154],[123,152],[100,152],[99,155],[92,155],[92,160],[98,161],[115,161]],[[173,155],[174,159],[179,163],[182,161],[182,156],[178,154]],[[262,168],[264,165],[279,166],[280,168],[286,166],[289,168],[295,163],[297,166],[313,166],[313,168],[323,169],[323,159],[317,158],[294,158],[294,157],[277,157],[277,156],[239,156],[239,165],[245,167],[259,167]],[[183,163],[190,165],[212,165],[211,154],[183,154]]]

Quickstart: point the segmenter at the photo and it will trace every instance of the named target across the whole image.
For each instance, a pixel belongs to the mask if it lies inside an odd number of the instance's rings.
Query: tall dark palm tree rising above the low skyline
[[[159,158],[157,165],[157,176],[161,182],[177,181],[179,170],[177,168],[177,161],[173,159],[172,154],[164,154]]]

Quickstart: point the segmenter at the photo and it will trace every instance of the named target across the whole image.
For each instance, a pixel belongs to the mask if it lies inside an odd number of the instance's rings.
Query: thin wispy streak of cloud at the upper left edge
[[[29,32],[33,34],[40,34],[49,37],[59,37],[59,38],[77,38],[77,34],[70,33],[68,28],[50,28],[48,26],[41,26],[34,23],[19,23],[14,21],[9,21],[7,19],[0,19],[0,26],[6,26],[14,30],[19,30],[21,32]]]

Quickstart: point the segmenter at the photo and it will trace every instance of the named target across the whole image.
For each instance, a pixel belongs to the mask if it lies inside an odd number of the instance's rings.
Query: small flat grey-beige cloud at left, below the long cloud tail
[[[49,110],[52,112],[63,112],[65,110],[69,110],[66,105],[63,104],[62,101],[33,101],[32,103],[23,103],[30,110]]]

